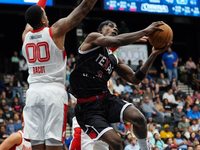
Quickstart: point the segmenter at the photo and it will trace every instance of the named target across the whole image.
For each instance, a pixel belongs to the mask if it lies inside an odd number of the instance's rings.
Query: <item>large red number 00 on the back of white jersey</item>
[[[46,62],[50,59],[49,44],[47,42],[39,42],[37,45],[34,43],[28,43],[25,46],[26,55],[29,63],[35,63],[37,60],[39,62]],[[30,52],[32,51],[32,58]],[[45,57],[41,56],[41,53]]]

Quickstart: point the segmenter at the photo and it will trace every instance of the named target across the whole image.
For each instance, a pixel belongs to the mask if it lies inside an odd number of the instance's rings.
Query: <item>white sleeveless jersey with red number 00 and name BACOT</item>
[[[28,32],[22,52],[29,68],[29,84],[65,83],[66,53],[55,45],[51,28]]]

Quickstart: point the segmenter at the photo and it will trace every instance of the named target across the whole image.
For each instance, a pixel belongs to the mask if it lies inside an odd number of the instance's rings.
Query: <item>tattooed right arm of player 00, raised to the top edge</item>
[[[93,8],[97,0],[83,0],[66,18],[58,20],[52,25],[53,37],[64,36],[72,30]]]

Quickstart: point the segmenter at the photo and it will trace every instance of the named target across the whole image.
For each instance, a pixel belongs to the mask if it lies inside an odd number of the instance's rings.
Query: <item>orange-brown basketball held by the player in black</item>
[[[155,48],[163,48],[170,43],[173,38],[173,31],[167,24],[163,24],[158,26],[164,30],[156,30],[151,33],[148,37],[149,43]]]

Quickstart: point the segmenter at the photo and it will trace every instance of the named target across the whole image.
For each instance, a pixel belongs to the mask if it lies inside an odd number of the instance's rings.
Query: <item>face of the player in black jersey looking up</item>
[[[115,23],[108,23],[108,25],[105,25],[102,28],[102,34],[104,36],[117,36],[118,35],[117,25]]]

